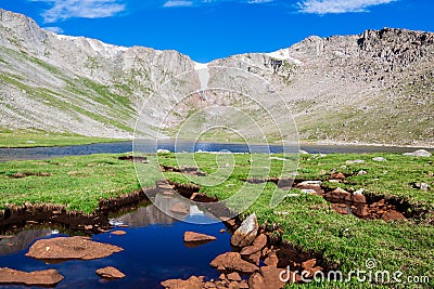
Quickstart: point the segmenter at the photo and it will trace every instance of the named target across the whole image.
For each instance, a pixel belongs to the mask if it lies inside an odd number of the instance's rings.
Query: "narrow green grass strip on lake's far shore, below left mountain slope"
[[[72,133],[0,130],[0,147],[67,146],[119,141],[127,140],[84,136]]]

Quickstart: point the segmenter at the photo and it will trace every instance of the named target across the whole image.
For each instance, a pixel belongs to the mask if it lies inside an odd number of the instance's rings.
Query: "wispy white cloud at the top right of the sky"
[[[328,14],[367,12],[367,8],[387,4],[397,0],[305,0],[298,2],[302,13]]]

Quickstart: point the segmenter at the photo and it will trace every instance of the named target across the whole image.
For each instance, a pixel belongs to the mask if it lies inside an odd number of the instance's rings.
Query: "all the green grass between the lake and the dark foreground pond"
[[[67,157],[46,161],[11,161],[0,163],[0,206],[8,203],[22,205],[30,202],[51,202],[67,206],[68,209],[91,212],[101,198],[115,197],[140,187],[132,162],[120,161],[119,155],[93,155]],[[373,157],[384,157],[383,162],[373,161]],[[194,157],[194,158],[192,158]],[[276,157],[283,157],[276,155]],[[288,156],[285,156],[288,157]],[[137,163],[142,185],[150,186],[161,174],[157,173],[155,158],[149,156],[150,163]],[[362,159],[362,163],[348,165],[347,160]],[[378,270],[401,271],[407,276],[429,276],[430,284],[420,288],[434,286],[434,226],[427,219],[434,215],[434,157],[417,158],[397,154],[359,154],[359,155],[303,155],[298,166],[299,180],[327,180],[332,170],[350,176],[343,188],[365,188],[366,194],[397,197],[404,199],[413,210],[425,210],[426,220],[403,220],[396,222],[363,221],[353,215],[341,215],[334,212],[322,197],[301,194],[286,197],[277,206],[269,206],[271,196],[284,193],[273,183],[261,185],[247,184],[250,172],[256,178],[280,176],[291,172],[284,168],[286,161],[272,159],[270,173],[267,172],[268,155],[216,155],[216,154],[159,154],[162,165],[199,166],[209,178],[186,176],[166,172],[164,176],[181,183],[194,182],[201,185],[201,192],[209,196],[227,199],[231,208],[240,208],[242,202],[252,200],[242,215],[255,212],[261,224],[278,224],[283,229],[283,240],[305,250],[321,252],[343,274],[352,270],[365,270],[367,259],[376,260]],[[226,166],[234,161],[232,169]],[[357,175],[360,170],[368,173]],[[13,179],[16,172],[46,172],[51,176],[27,176]],[[226,178],[226,175],[229,175]],[[213,185],[206,185],[206,182]],[[427,192],[412,188],[413,182],[425,182],[431,186]],[[334,183],[324,183],[335,187]],[[254,193],[263,186],[261,194],[255,198]],[[242,197],[231,196],[244,187]],[[299,193],[299,192],[292,192]],[[366,288],[353,278],[350,283],[298,285],[306,288]],[[291,286],[290,286],[291,287]],[[374,285],[373,287],[380,287]],[[388,288],[390,285],[384,285]],[[417,285],[395,285],[395,288],[416,287]]]

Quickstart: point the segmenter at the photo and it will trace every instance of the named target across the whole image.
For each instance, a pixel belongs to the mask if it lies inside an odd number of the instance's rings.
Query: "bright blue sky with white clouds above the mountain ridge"
[[[310,36],[383,27],[434,31],[432,0],[0,0],[41,27],[194,61],[270,52]]]

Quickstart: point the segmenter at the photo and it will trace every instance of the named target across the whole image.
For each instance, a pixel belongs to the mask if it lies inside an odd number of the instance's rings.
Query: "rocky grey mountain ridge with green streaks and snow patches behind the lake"
[[[138,124],[150,137],[207,130],[205,139],[228,139],[219,133],[229,130],[210,132],[221,122],[273,139],[272,121],[291,134],[293,117],[302,140],[432,145],[433,64],[432,32],[311,36],[204,65],[176,51],[55,35],[0,10],[0,129],[129,137]]]

